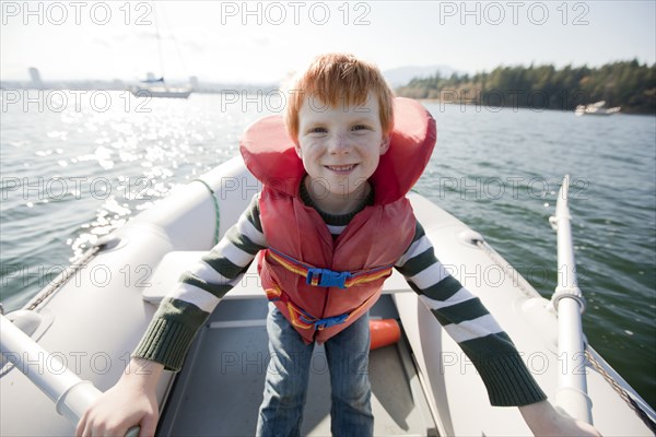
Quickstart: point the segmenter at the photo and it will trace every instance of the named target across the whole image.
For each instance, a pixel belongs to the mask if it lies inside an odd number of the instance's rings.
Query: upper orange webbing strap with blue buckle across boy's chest
[[[361,270],[358,272],[335,272],[329,269],[320,269],[312,264],[301,262],[289,255],[272,248],[269,248],[266,251],[266,256],[276,260],[277,263],[290,272],[305,277],[308,285],[327,287],[336,286],[339,288],[348,288],[356,284],[364,284],[382,277],[387,277],[391,274],[391,268],[394,265],[383,265],[379,268]]]

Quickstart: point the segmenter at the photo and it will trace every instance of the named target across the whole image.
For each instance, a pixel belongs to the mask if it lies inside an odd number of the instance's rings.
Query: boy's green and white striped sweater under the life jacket
[[[304,184],[301,184],[303,187]],[[367,204],[347,215],[323,213],[307,192],[303,201],[315,208],[336,237]],[[179,370],[187,351],[220,299],[239,283],[258,251],[267,248],[259,215],[259,196],[225,237],[189,272],[161,303],[133,356]],[[479,371],[492,405],[525,405],[544,400],[513,342],[478,297],[464,288],[436,259],[433,245],[417,222],[410,247],[395,268],[431,309],[446,332],[460,345]]]

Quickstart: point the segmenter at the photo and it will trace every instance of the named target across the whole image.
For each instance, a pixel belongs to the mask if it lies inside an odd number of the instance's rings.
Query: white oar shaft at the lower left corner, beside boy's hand
[[[0,354],[3,362],[12,363],[55,402],[58,414],[68,417],[74,424],[102,393],[91,381],[80,379],[68,368],[59,371],[65,368],[61,362],[2,315],[0,315]],[[46,366],[44,371],[28,371],[30,363],[38,362],[39,357],[44,356],[48,356],[52,366]],[[57,374],[49,371],[49,368],[58,369]],[[139,427],[130,428],[126,436],[139,436]]]

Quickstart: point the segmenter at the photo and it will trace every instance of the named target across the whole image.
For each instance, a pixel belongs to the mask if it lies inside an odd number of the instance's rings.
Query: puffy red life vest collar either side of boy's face
[[[403,198],[426,167],[437,140],[435,120],[417,101],[394,99],[394,130],[387,152],[370,181],[375,204]],[[296,197],[306,172],[289,137],[282,116],[250,125],[239,142],[246,167],[262,184]]]

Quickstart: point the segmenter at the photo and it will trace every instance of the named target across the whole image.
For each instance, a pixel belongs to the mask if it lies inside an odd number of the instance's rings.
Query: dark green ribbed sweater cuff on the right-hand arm
[[[518,354],[487,358],[476,367],[494,406],[522,406],[540,402],[547,394]]]

